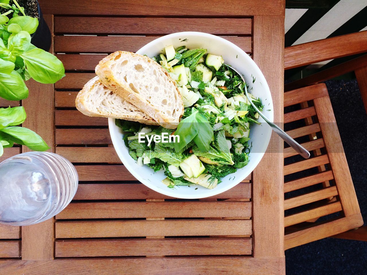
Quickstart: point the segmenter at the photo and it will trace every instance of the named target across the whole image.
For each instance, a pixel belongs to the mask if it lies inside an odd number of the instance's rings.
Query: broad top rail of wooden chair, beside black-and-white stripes
[[[284,69],[288,70],[362,52],[367,52],[366,30],[286,47],[284,49]]]

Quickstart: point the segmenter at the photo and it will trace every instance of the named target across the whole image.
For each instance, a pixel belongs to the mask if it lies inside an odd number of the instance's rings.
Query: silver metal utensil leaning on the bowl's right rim
[[[235,71],[242,78],[243,82],[245,83],[244,90],[245,90],[245,95],[247,97],[247,100],[250,101],[252,107],[254,107],[254,109],[266,121],[266,123],[268,123],[270,125],[270,127],[273,129],[273,131],[276,132],[286,143],[288,143],[289,146],[291,146],[294,150],[296,150],[296,152],[298,154],[300,154],[304,158],[309,158],[310,157],[310,152],[309,151],[307,151],[301,144],[299,144],[294,139],[292,139],[290,137],[290,135],[288,135],[286,132],[284,132],[278,125],[276,125],[273,122],[271,122],[270,120],[268,120],[268,118],[266,118],[265,115],[263,115],[261,113],[261,111],[255,106],[255,104],[250,99],[250,96],[248,96],[246,81],[243,78],[242,74],[240,72],[238,72],[232,66],[229,66],[227,64],[224,64],[224,65],[227,66],[228,68],[232,69],[233,71]]]

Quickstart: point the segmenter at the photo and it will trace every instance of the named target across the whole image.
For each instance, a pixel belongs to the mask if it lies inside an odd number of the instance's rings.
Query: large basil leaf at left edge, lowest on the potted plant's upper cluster
[[[28,97],[28,88],[17,72],[0,73],[0,96],[7,100],[21,100]]]

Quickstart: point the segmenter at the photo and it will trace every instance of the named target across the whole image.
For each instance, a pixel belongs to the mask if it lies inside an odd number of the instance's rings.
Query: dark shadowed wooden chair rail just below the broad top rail
[[[290,91],[307,85],[317,84],[343,74],[353,72],[367,66],[367,55],[349,60],[337,66],[323,70],[319,73],[311,74],[299,80],[284,85],[284,91]]]

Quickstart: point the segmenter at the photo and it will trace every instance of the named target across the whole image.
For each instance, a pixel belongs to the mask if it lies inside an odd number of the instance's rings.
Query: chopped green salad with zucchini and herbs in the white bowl
[[[177,129],[126,120],[116,120],[116,125],[126,132],[124,142],[138,165],[164,169],[167,187],[199,184],[212,189],[247,165],[250,127],[260,124],[259,114],[244,95],[247,84],[224,65],[222,56],[172,45],[164,52],[152,59],[167,70],[182,95],[185,111]],[[261,100],[250,97],[262,110]],[[139,142],[139,133],[151,139]],[[178,136],[179,142],[153,141],[152,136],[162,134]]]

